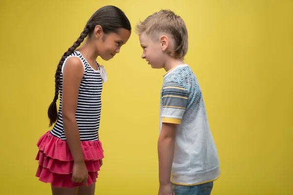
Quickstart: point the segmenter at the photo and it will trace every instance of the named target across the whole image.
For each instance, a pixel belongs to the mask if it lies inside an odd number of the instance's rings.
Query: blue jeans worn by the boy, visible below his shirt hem
[[[194,186],[176,185],[171,182],[175,195],[210,195],[213,181]]]

